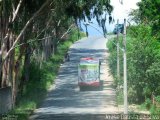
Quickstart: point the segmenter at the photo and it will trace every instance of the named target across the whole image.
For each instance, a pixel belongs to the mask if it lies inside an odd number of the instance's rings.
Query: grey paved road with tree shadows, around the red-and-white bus
[[[79,59],[88,56],[107,59],[106,42],[102,37],[89,37],[71,46],[70,61],[61,65],[55,86],[31,116],[32,120],[105,120],[105,114],[118,112],[106,60],[101,65],[103,90],[80,91],[77,84]]]

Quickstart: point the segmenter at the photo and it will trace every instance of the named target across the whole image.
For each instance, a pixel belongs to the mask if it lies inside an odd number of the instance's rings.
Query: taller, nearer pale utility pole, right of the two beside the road
[[[128,100],[127,100],[127,55],[126,55],[126,19],[124,19],[124,30],[123,30],[123,69],[124,69],[124,114],[128,114]]]

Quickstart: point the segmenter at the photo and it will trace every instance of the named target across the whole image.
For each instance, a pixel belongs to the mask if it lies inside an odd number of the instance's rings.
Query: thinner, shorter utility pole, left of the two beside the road
[[[117,79],[120,79],[120,67],[119,67],[119,19],[117,20]]]

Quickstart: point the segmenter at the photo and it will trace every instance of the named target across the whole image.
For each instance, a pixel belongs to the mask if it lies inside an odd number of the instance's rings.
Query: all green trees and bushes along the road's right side
[[[145,7],[146,5],[152,7]],[[160,114],[160,15],[159,0],[142,0],[130,15],[136,26],[127,28],[127,82],[129,104],[141,105],[151,114]],[[111,42],[112,41],[112,42]],[[123,54],[120,53],[121,78],[116,76],[116,38],[107,44],[111,72],[119,88],[118,102],[123,104]],[[120,37],[121,47],[122,37]]]

